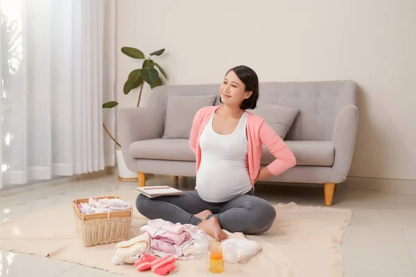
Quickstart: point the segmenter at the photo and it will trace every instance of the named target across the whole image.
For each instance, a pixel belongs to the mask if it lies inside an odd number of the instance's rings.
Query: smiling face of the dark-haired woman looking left
[[[220,86],[221,101],[225,105],[240,106],[243,100],[250,98],[252,91],[245,91],[245,84],[241,82],[234,71],[229,71]]]

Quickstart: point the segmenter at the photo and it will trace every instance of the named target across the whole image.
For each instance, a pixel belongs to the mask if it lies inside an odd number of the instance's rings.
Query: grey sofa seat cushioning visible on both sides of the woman
[[[332,166],[333,146],[330,141],[286,141],[295,154],[297,166]],[[189,139],[149,139],[130,145],[130,156],[135,159],[157,159],[169,161],[196,161],[189,148]],[[275,160],[263,146],[262,164]]]

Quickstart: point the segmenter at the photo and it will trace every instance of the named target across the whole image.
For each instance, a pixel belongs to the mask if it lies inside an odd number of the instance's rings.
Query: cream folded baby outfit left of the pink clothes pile
[[[134,264],[139,260],[140,254],[148,251],[150,235],[144,233],[131,240],[116,244],[116,254],[112,258],[114,265]]]

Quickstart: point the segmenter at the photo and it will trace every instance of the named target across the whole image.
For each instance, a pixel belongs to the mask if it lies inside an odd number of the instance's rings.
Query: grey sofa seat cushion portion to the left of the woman
[[[135,159],[196,161],[189,148],[189,139],[148,139],[130,144],[130,156]]]

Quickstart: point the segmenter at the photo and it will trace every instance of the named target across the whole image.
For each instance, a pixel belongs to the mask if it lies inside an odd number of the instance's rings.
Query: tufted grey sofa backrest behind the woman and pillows
[[[168,95],[218,95],[220,84],[165,85],[152,91],[148,105],[166,118]],[[330,141],[336,116],[347,105],[358,106],[358,86],[350,80],[263,82],[258,102],[295,107],[300,113],[285,140]]]

